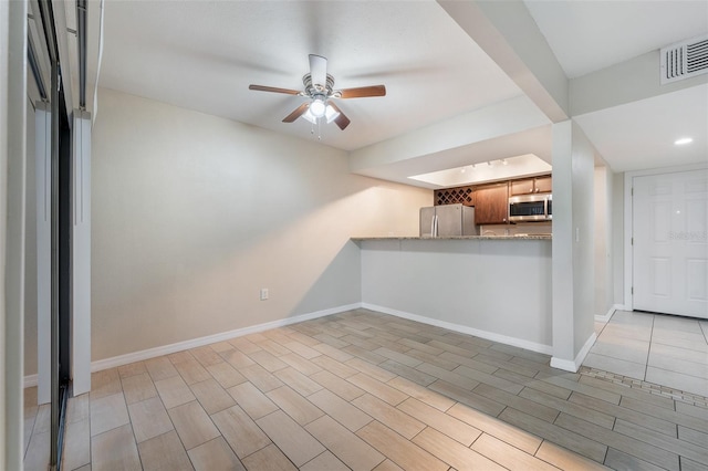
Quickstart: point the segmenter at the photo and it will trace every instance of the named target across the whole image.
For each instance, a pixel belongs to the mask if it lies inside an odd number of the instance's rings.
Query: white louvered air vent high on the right
[[[708,36],[662,49],[662,85],[708,73]]]

